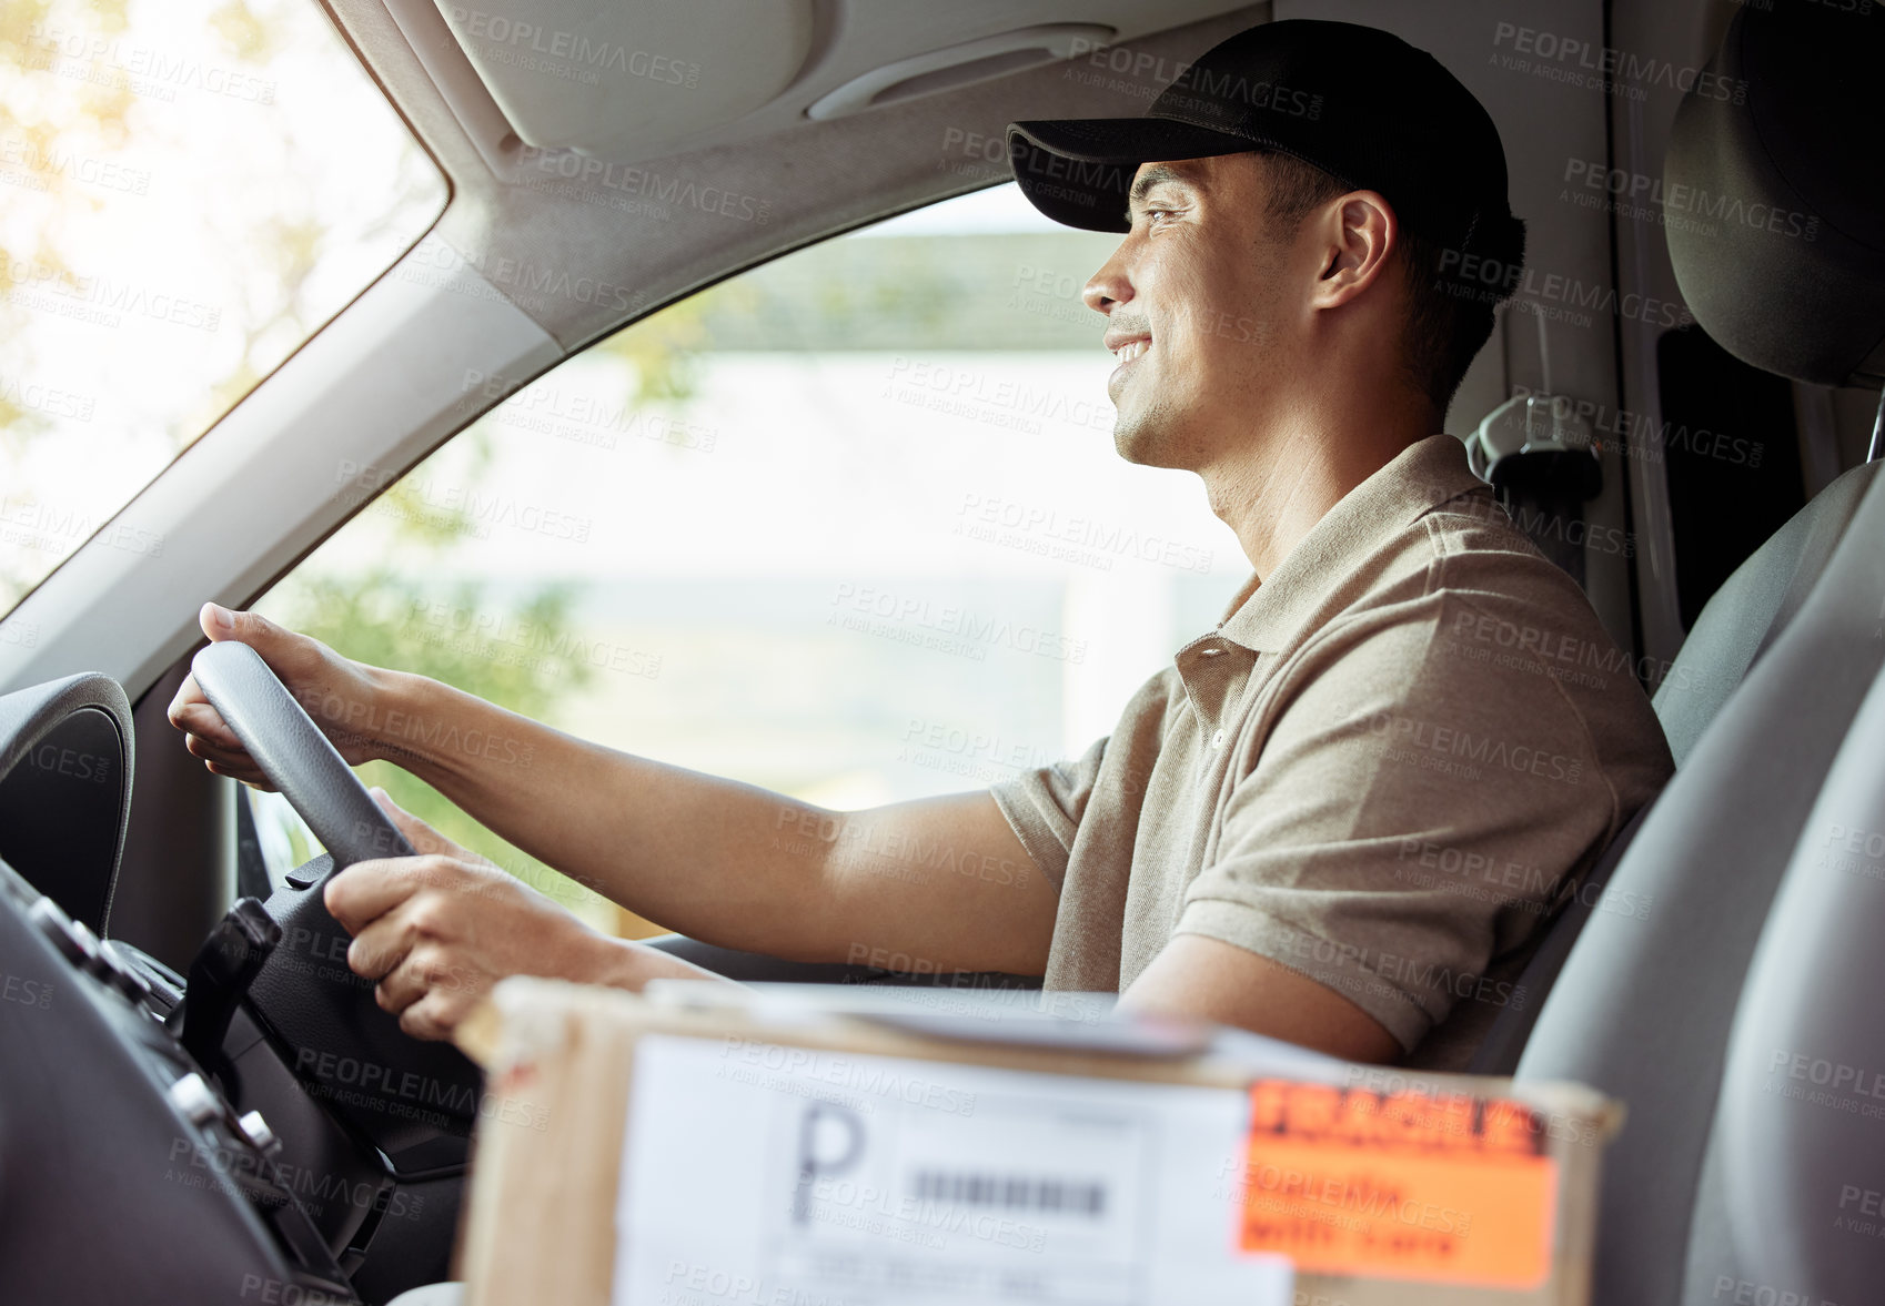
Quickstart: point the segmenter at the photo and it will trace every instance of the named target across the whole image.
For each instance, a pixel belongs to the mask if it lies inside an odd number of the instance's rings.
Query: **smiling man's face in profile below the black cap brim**
[[[1133,230],[1084,296],[1120,360],[1106,392],[1127,462],[1199,469],[1276,409],[1306,318],[1303,251],[1267,202],[1259,155],[1140,164]]]

